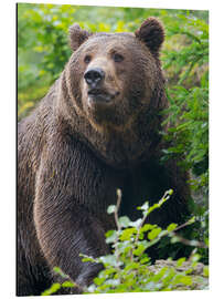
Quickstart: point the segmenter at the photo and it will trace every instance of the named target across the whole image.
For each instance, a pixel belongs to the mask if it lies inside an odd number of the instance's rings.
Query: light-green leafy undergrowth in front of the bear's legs
[[[172,190],[167,192],[162,199],[151,207],[149,207],[148,203],[138,207],[138,209],[142,212],[142,217],[136,221],[131,221],[126,216],[118,218],[120,204],[118,194],[117,206],[108,207],[108,212],[115,214],[117,224],[116,230],[109,230],[106,234],[106,243],[111,246],[113,252],[98,258],[81,255],[84,262],[92,261],[94,264],[104,265],[104,270],[98,274],[94,282],[83,289],[85,293],[207,288],[209,268],[203,267],[201,274],[195,276],[195,269],[200,260],[200,255],[196,251],[191,255],[189,261],[183,257],[179,258],[177,261],[160,261],[156,264],[156,266],[151,265],[150,257],[147,254],[148,248],[160,241],[160,239],[167,235],[171,237],[171,240],[175,238],[174,241],[177,241],[178,236],[175,231],[180,228],[177,224],[170,224],[167,229],[162,229],[157,225],[145,223],[149,214],[160,208],[161,205],[170,198]],[[191,225],[192,223],[194,223],[194,218],[190,219],[184,226]],[[189,243],[192,246],[200,245],[195,240]]]

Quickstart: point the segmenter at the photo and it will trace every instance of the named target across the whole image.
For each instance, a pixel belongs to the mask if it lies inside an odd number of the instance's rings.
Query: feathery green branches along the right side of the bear
[[[181,24],[180,24],[181,22]],[[168,89],[170,107],[166,140],[171,146],[164,157],[184,157],[181,164],[191,169],[195,178],[192,188],[203,188],[207,194],[209,184],[209,27],[202,20],[181,17],[169,27],[171,40],[182,39],[166,52],[163,68],[172,82]],[[177,54],[178,51],[178,54]],[[172,73],[172,75],[169,75]]]

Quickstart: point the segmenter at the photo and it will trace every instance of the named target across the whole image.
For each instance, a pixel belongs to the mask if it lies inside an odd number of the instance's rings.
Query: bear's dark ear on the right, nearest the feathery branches
[[[158,55],[164,40],[164,29],[156,18],[147,19],[135,32],[136,38],[142,41],[149,50]]]

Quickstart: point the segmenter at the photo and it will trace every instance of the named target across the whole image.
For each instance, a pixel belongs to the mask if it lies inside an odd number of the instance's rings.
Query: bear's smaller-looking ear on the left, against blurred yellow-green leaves
[[[81,29],[78,24],[73,24],[70,27],[70,45],[73,51],[76,51],[78,47],[87,40],[93,33]]]

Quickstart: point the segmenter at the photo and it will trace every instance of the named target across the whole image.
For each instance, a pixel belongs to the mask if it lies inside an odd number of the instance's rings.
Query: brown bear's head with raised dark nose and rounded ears
[[[70,106],[98,132],[125,131],[143,110],[160,109],[163,39],[163,28],[154,18],[135,33],[89,33],[72,25],[73,54],[65,70]]]

